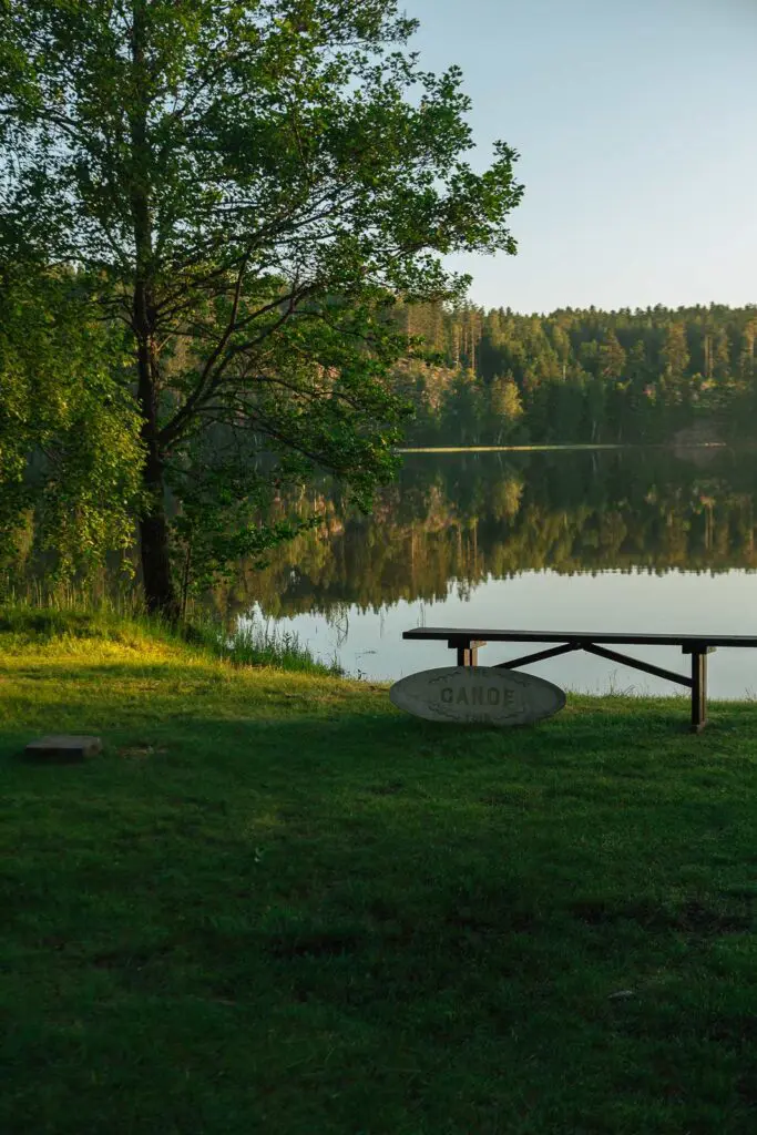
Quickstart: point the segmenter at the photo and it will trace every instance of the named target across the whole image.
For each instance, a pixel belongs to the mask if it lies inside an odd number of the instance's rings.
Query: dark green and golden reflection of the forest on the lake
[[[757,463],[666,452],[409,459],[372,516],[327,496],[320,531],[247,571],[233,597],[269,615],[428,603],[523,571],[757,568]]]

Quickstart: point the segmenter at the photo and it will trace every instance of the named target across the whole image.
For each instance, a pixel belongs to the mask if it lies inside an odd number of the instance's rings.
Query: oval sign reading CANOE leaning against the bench
[[[447,666],[409,674],[394,683],[389,698],[417,717],[469,725],[528,725],[565,705],[558,686],[497,666]]]

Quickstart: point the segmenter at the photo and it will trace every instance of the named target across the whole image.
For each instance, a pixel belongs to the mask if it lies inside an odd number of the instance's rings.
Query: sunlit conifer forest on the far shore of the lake
[[[751,436],[757,306],[548,316],[403,306],[417,356],[395,370],[411,445],[628,444]]]

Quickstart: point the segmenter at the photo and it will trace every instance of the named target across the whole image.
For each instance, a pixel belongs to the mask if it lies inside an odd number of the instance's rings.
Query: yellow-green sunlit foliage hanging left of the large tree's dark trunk
[[[123,334],[86,309],[86,291],[65,270],[0,283],[0,568],[25,528],[60,575],[91,573],[134,540],[138,415],[120,380]]]

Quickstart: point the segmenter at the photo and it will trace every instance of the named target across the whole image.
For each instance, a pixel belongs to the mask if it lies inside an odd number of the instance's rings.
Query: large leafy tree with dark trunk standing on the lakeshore
[[[462,294],[443,254],[514,251],[516,155],[464,160],[461,76],[420,68],[395,0],[0,12],[0,254],[75,267],[127,328],[144,588],[175,616],[171,546],[256,554],[291,535],[252,522],[271,489],[390,474],[390,305]]]

